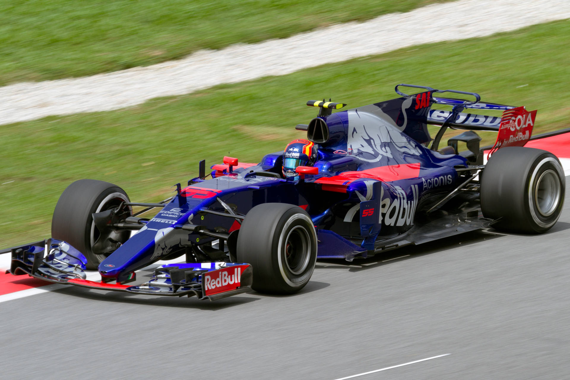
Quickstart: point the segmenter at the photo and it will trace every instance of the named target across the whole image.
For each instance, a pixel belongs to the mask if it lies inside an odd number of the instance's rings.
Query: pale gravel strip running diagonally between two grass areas
[[[49,115],[109,111],[222,83],[284,75],[418,44],[512,31],[570,18],[569,0],[461,0],[387,14],[257,44],[77,79],[0,88],[0,124]]]

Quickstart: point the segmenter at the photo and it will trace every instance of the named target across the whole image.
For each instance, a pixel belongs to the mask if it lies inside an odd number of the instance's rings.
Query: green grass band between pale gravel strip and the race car
[[[393,99],[397,83],[475,91],[483,100],[538,109],[535,133],[568,126],[570,21],[488,38],[430,44],[286,76],[154,99],[120,111],[4,125],[0,152],[0,247],[48,236],[65,187],[80,178],[123,187],[136,201],[168,197],[170,185],[224,155],[258,162],[284,148],[304,103],[332,97],[356,107]],[[519,87],[526,85],[524,87]],[[488,141],[488,140],[487,140]]]

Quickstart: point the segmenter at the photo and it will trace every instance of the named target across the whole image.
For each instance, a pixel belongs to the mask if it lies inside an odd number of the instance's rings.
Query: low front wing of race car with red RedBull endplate
[[[144,284],[111,284],[87,280],[87,259],[62,240],[47,239],[10,248],[5,251],[8,252],[11,265],[6,273],[105,291],[217,300],[251,291],[253,281],[249,264],[212,262],[161,265]],[[129,280],[135,280],[134,276]]]

